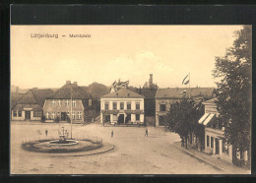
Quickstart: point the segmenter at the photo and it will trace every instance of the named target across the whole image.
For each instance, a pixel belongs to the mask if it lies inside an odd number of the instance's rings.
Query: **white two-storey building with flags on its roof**
[[[101,123],[144,124],[144,96],[121,88],[101,96]]]

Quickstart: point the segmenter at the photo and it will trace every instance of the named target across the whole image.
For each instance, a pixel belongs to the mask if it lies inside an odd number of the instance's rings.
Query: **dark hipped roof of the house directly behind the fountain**
[[[48,99],[83,99],[90,97],[89,94],[83,90],[81,87],[77,86],[76,84],[65,84],[62,88],[58,91],[55,91],[51,96],[47,97]]]

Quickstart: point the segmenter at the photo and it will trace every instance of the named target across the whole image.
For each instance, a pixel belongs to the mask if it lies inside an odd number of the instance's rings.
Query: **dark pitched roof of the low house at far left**
[[[38,104],[41,107],[43,106],[44,100],[50,94],[52,90],[30,90],[26,92],[19,100],[18,104]]]

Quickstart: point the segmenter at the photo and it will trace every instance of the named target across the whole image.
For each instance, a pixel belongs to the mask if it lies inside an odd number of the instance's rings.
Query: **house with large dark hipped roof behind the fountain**
[[[77,82],[66,84],[45,99],[43,115],[46,122],[59,119],[62,122],[84,123],[94,121],[96,109],[92,95],[89,95]]]

